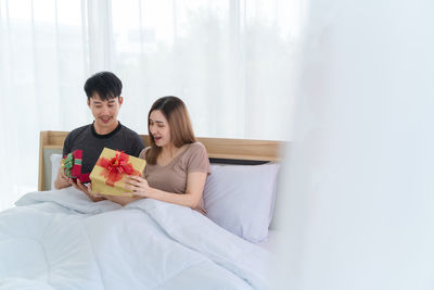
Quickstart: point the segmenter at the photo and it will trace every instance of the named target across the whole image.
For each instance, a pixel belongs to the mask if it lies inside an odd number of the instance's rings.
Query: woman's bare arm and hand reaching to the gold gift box
[[[150,198],[164,202],[170,202],[191,209],[196,209],[203,193],[206,181],[206,173],[189,173],[187,175],[187,189],[184,194],[163,191],[152,188],[148,181],[138,176],[129,176],[126,180],[126,188],[139,198]]]

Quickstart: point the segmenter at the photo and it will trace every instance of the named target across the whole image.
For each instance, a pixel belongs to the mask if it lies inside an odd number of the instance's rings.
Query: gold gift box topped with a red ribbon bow
[[[141,176],[146,162],[122,151],[104,148],[90,173],[92,191],[100,194],[125,196],[128,175]]]

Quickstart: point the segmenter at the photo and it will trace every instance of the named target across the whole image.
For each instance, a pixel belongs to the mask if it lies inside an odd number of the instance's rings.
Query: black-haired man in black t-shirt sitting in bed
[[[124,98],[120,97],[122,88],[120,79],[110,72],[94,74],[85,84],[87,103],[94,121],[92,124],[71,131],[63,144],[64,156],[77,149],[82,150],[81,174],[92,171],[104,147],[122,150],[133,156],[139,156],[144,148],[141,137],[117,119],[124,102]],[[62,189],[69,186],[84,191],[93,201],[101,199],[90,194],[89,189],[78,179],[75,182],[67,178],[61,168],[54,187]]]

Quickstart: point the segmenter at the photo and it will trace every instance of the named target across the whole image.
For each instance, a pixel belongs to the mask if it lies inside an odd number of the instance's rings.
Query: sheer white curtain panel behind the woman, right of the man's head
[[[200,136],[286,138],[291,2],[113,0],[111,9],[112,66],[137,104],[123,110],[126,123],[146,130],[152,102],[175,94]]]

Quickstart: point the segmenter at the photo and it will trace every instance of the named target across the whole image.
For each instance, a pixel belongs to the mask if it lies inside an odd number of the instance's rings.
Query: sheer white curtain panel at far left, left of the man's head
[[[39,131],[90,121],[86,5],[80,1],[0,1],[0,207],[36,190]]]

